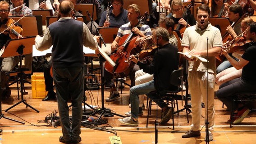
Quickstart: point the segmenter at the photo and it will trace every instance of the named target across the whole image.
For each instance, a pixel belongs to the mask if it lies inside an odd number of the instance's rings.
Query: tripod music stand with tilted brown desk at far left
[[[1,57],[11,57],[11,56],[19,56],[19,68],[18,68],[18,75],[20,75],[20,91],[21,91],[21,100],[18,103],[15,103],[10,108],[7,108],[5,112],[9,109],[14,108],[19,103],[24,103],[26,107],[32,108],[36,112],[39,112],[36,108],[33,108],[31,105],[26,103],[26,100],[23,99],[23,69],[22,69],[22,56],[23,54],[31,54],[32,53],[32,45],[35,43],[36,36],[30,36],[27,38],[22,39],[14,39],[14,40],[7,40],[5,44],[4,53]]]

